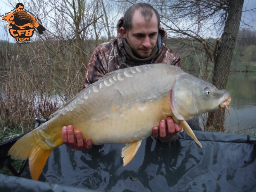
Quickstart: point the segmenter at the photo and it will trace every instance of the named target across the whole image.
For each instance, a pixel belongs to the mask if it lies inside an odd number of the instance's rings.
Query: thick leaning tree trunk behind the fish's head
[[[227,4],[227,20],[221,35],[221,43],[216,55],[213,73],[213,85],[219,89],[226,89],[228,83],[228,71],[235,42],[239,31],[244,0],[234,0]],[[214,126],[217,130],[224,131],[225,110],[217,110],[209,113],[208,126]]]

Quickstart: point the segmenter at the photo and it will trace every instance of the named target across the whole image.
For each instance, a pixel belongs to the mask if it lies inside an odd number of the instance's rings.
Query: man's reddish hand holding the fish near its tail
[[[62,140],[64,144],[70,149],[85,150],[92,148],[92,140],[86,139],[86,143],[83,143],[83,137],[81,131],[76,131],[76,137],[74,135],[74,129],[72,125],[64,126],[62,128]]]

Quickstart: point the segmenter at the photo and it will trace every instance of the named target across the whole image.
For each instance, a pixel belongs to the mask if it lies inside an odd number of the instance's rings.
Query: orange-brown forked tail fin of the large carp
[[[29,170],[33,180],[38,180],[53,149],[45,150],[36,140],[35,131],[20,138],[9,150],[12,159],[29,159]]]

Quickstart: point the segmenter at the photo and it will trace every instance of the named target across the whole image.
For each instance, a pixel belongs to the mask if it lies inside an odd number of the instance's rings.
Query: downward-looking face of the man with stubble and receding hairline
[[[151,20],[145,21],[140,11],[136,10],[132,22],[133,28],[128,33],[126,33],[124,28],[121,28],[120,32],[123,38],[126,38],[134,55],[140,59],[147,58],[157,42],[158,27],[156,15],[153,13]]]

